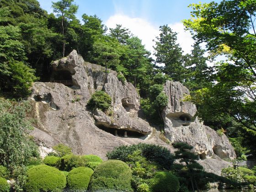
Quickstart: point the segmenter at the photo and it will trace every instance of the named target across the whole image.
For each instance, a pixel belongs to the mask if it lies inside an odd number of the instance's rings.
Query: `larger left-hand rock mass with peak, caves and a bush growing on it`
[[[56,83],[65,82],[64,78],[72,84]],[[30,97],[37,119],[32,135],[44,147],[64,143],[76,154],[106,158],[114,147],[145,142],[152,132],[149,123],[139,117],[140,98],[134,86],[122,85],[115,71],[106,73],[99,65],[85,63],[75,50],[53,62],[51,81],[34,83]],[[112,98],[106,113],[86,108],[91,95],[99,90]]]

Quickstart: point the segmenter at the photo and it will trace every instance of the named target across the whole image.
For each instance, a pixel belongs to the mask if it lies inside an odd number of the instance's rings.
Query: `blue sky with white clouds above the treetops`
[[[38,0],[43,9],[52,12],[52,1]],[[208,3],[212,0],[75,0],[79,5],[77,18],[81,15],[97,15],[108,28],[116,24],[130,29],[133,35],[142,39],[145,47],[153,53],[155,37],[159,35],[161,25],[169,25],[177,32],[177,43],[184,53],[190,53],[193,40],[189,32],[184,31],[183,19],[190,18],[191,3]],[[220,0],[215,0],[220,2]]]

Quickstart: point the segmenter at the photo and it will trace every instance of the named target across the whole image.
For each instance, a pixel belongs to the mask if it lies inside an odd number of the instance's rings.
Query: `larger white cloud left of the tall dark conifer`
[[[155,43],[152,40],[159,35],[158,27],[153,26],[142,18],[131,18],[123,14],[111,16],[105,23],[108,28],[115,28],[116,24],[121,24],[123,27],[128,28],[133,35],[142,40],[145,48],[153,53],[153,45]]]

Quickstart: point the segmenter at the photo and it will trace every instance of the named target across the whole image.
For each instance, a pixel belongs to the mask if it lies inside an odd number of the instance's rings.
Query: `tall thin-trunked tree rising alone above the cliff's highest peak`
[[[63,35],[63,57],[65,56],[65,32],[66,25],[65,22],[74,19],[75,13],[78,10],[78,5],[73,4],[74,0],[59,0],[53,2],[53,12],[57,13],[57,16],[61,17],[61,32]]]

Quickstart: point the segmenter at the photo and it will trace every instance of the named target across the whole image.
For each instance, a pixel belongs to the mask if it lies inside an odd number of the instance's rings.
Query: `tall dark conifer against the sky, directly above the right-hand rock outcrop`
[[[179,44],[176,43],[177,33],[173,32],[167,25],[160,26],[160,35],[156,37],[155,53],[156,62],[164,64],[163,72],[171,77],[174,81],[183,82],[184,73],[184,57]]]

